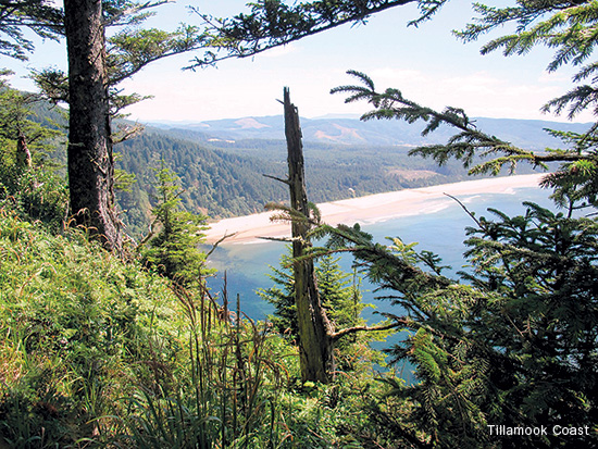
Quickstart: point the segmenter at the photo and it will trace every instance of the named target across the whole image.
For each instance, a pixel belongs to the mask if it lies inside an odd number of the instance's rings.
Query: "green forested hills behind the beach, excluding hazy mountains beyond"
[[[130,191],[119,192],[128,232],[147,229],[155,171],[163,160],[180,177],[183,205],[211,219],[262,212],[270,201],[285,201],[285,186],[264,174],[285,177],[284,140],[190,141],[179,132],[148,127],[115,147],[119,169],[134,173]],[[190,138],[191,136],[186,136]],[[197,136],[196,136],[197,137]],[[219,145],[220,148],[215,146]],[[456,163],[409,158],[406,147],[306,142],[308,194],[314,202],[463,179]]]

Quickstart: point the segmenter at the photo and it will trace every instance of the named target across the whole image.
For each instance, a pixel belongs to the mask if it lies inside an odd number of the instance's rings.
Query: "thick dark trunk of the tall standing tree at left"
[[[78,224],[120,250],[101,0],[65,0],[68,53],[68,188]]]

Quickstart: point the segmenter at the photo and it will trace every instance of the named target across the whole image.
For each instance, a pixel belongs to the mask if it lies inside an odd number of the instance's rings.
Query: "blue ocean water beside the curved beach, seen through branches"
[[[524,201],[535,202],[546,208],[552,203],[548,199],[548,191],[540,188],[519,188],[506,194],[469,195],[460,196],[459,200],[476,217],[491,217],[488,208],[498,209],[508,215],[523,214]],[[450,198],[429,200],[416,211],[403,211],[410,215],[388,219],[384,221],[359,222],[361,228],[374,236],[376,241],[385,241],[387,237],[400,237],[406,244],[418,242],[416,249],[433,251],[440,255],[443,265],[450,265],[451,270],[445,275],[454,274],[457,271],[466,271],[466,261],[463,258],[465,246],[463,240],[465,227],[473,226],[474,222],[463,208]],[[352,225],[353,223],[347,223]],[[256,292],[259,288],[269,288],[273,282],[267,277],[271,273],[270,265],[278,267],[279,259],[287,251],[284,242],[260,240],[249,244],[228,244],[219,247],[212,253],[210,263],[219,270],[215,277],[211,278],[209,286],[213,292],[221,291],[226,273],[227,290],[231,300],[240,297],[241,311],[253,320],[263,320],[272,313],[272,304],[262,300]],[[351,273],[352,258],[344,254],[340,261],[341,267]],[[363,311],[363,316],[370,322],[379,321],[377,312],[389,312],[401,315],[403,311],[397,305],[391,305],[387,299],[381,299],[384,291],[375,291],[376,286],[366,280],[362,284],[363,302],[371,304]],[[403,333],[398,333],[387,339],[372,344],[375,349],[389,348],[404,338]],[[407,384],[416,382],[412,366],[403,363],[396,366],[400,377]],[[382,369],[381,369],[382,370]]]

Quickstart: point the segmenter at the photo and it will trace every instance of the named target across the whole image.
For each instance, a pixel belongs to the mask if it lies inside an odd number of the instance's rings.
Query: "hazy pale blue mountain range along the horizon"
[[[545,132],[545,128],[583,133],[587,124],[561,123],[539,120],[475,119],[476,126],[501,139],[525,149],[541,150],[558,147],[560,141]],[[152,122],[162,129],[191,132],[195,139],[212,142],[233,142],[244,139],[284,139],[282,115],[242,117],[208,121],[200,123]],[[359,146],[421,146],[446,142],[454,134],[447,126],[438,128],[431,136],[422,137],[423,123],[409,124],[402,121],[369,121],[358,119],[322,117],[301,119],[303,139],[321,144]]]

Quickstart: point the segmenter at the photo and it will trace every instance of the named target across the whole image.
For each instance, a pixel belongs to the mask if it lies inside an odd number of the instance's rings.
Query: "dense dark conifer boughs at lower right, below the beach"
[[[422,444],[476,448],[490,444],[490,424],[559,424],[593,429],[569,445],[596,444],[598,223],[526,205],[523,216],[474,216],[465,284],[440,276],[438,259],[412,246],[327,228],[407,312],[393,319],[412,334],[390,353],[410,361],[420,382],[389,394],[413,404],[396,423],[409,438],[418,429]],[[501,437],[502,447],[561,442]]]

